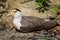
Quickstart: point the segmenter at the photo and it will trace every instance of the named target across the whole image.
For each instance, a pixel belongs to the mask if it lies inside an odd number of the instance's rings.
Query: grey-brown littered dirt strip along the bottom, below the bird
[[[0,30],[0,40],[60,40],[60,35],[42,33],[42,31],[22,33],[12,30]]]

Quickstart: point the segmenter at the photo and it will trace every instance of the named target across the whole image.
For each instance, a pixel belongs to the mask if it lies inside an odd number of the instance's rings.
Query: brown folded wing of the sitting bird
[[[22,19],[22,29],[24,30],[42,30],[42,29],[51,29],[56,26],[56,21],[55,20],[50,20],[50,21],[44,21],[44,19],[37,18],[37,17],[31,17],[31,16],[25,16]]]

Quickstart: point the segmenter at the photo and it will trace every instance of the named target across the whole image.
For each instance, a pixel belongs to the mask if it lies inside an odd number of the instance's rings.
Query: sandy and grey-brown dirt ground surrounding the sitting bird
[[[46,15],[52,15],[56,17],[54,13],[56,12],[51,12],[45,11],[44,13],[38,12],[35,8],[35,0],[33,1],[17,1],[15,0],[10,0],[9,2],[9,7],[11,8],[18,8],[21,9],[22,14],[24,16],[35,16],[39,18],[46,18]],[[25,1],[25,2],[23,2]],[[54,4],[59,4],[60,0],[51,0],[52,5]],[[54,1],[54,2],[53,2]],[[20,4],[19,4],[20,3]],[[55,28],[48,30],[47,32],[45,30],[42,31],[35,31],[35,32],[30,32],[30,33],[22,33],[22,32],[17,32],[14,30],[10,30],[10,27],[12,27],[12,17],[6,17],[7,13],[3,14],[3,19],[1,21],[0,18],[0,40],[60,40],[60,26],[56,26]],[[6,28],[7,27],[7,28]]]

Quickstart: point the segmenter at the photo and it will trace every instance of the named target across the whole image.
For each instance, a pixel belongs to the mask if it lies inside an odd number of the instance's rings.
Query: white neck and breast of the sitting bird
[[[13,24],[15,28],[18,30],[20,30],[20,27],[22,26],[21,20],[22,20],[22,15],[21,15],[21,12],[18,11],[15,13],[14,20],[13,20]]]

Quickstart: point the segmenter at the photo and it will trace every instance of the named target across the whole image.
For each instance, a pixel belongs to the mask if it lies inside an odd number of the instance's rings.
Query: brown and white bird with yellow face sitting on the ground
[[[7,16],[13,17],[13,25],[15,29],[21,32],[49,30],[57,25],[56,20],[23,16],[21,10],[18,8],[11,9],[11,12],[7,14]]]

